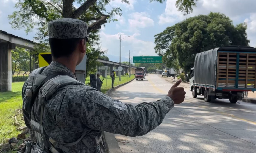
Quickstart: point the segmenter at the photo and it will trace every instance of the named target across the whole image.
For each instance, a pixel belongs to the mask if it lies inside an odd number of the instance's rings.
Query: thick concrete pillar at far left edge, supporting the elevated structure
[[[12,91],[13,43],[0,43],[0,92]]]

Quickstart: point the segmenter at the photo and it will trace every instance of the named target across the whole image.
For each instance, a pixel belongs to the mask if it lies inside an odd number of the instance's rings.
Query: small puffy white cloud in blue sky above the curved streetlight
[[[130,19],[128,19],[130,28],[145,28],[154,26],[154,21],[150,18],[146,12],[134,12],[129,14]]]

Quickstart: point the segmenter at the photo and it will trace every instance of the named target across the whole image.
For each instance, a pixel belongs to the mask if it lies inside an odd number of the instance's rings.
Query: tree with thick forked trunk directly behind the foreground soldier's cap
[[[28,34],[34,28],[38,30],[34,39],[38,42],[32,54],[38,56],[40,52],[49,51],[48,28],[49,21],[60,18],[80,19],[88,23],[88,37],[92,46],[99,45],[99,31],[101,26],[111,21],[117,21],[114,17],[122,15],[119,7],[109,7],[107,5],[112,0],[19,0],[15,4],[17,11],[14,11],[8,18],[11,27],[14,29],[25,29]],[[129,4],[127,0],[121,0],[123,3]],[[150,0],[150,2],[158,1],[163,3],[164,0]],[[176,6],[185,14],[192,11],[191,6],[195,6],[197,0],[177,0]],[[75,3],[80,4],[76,7]],[[90,48],[90,50],[93,50]],[[93,54],[87,54],[90,58],[99,57],[102,52],[94,49]],[[90,65],[87,68],[92,70]]]

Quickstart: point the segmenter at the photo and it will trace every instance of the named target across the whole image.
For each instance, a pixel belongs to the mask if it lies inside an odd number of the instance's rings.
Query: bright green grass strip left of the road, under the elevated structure
[[[126,83],[134,79],[134,75],[122,76],[121,81],[119,77],[115,78],[114,86]],[[101,77],[102,80],[102,77]],[[86,78],[86,83],[90,79]],[[0,143],[6,143],[7,138],[17,137],[20,131],[17,128],[25,126],[22,114],[22,97],[21,91],[24,82],[12,83],[12,91],[0,92]],[[106,77],[103,80],[101,92],[105,93],[111,88],[111,77]],[[18,125],[15,125],[15,122]],[[8,142],[7,142],[8,143]]]

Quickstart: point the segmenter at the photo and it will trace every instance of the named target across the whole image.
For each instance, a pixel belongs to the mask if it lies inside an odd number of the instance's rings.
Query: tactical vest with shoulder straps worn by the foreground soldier
[[[28,86],[26,87],[26,96],[23,100],[27,100],[28,105],[25,106],[25,111],[30,114],[30,132],[31,138],[34,139],[34,142],[25,142],[25,147],[22,149],[21,152],[23,153],[59,153],[64,152],[67,153],[69,149],[67,147],[73,146],[79,143],[82,138],[88,133],[83,133],[82,136],[73,143],[65,143],[60,144],[45,133],[42,120],[43,120],[43,112],[44,112],[44,102],[46,99],[51,97],[51,95],[56,92],[57,89],[60,87],[74,84],[74,85],[85,85],[84,83],[75,80],[71,77],[70,74],[65,72],[57,72],[55,74],[46,76],[42,75],[41,72],[44,70],[45,67],[38,68],[32,71],[29,75]],[[65,83],[65,85],[63,85]],[[39,89],[42,89],[40,95],[38,95]],[[41,106],[40,111],[40,123],[35,121],[35,117],[31,112],[32,107],[35,102],[35,98],[39,99],[39,103]],[[98,137],[97,137],[98,139]],[[99,148],[99,140],[97,148]]]

